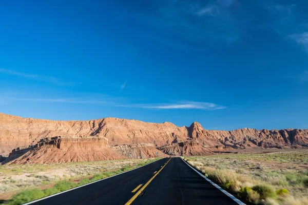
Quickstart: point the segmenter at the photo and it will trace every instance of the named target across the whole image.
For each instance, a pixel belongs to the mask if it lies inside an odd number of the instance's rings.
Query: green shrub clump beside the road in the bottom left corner
[[[12,197],[8,204],[24,204],[45,196],[44,192],[40,189],[31,189],[22,191]]]

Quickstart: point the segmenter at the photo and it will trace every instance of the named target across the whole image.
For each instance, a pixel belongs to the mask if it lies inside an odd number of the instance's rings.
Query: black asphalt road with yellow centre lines
[[[56,204],[238,204],[180,158],[164,158],[72,191],[34,202]]]

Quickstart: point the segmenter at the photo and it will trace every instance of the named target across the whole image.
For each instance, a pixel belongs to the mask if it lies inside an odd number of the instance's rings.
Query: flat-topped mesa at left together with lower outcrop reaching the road
[[[153,144],[110,147],[101,136],[57,136],[43,138],[34,146],[13,149],[2,164],[62,163],[110,159],[166,157]]]

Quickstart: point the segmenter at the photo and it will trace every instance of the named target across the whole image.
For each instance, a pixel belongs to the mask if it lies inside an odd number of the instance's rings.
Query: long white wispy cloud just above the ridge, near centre
[[[148,109],[200,109],[200,110],[218,110],[225,109],[225,106],[219,106],[214,103],[196,102],[196,101],[182,101],[178,103],[167,104],[137,104],[124,105],[123,107],[136,107]]]

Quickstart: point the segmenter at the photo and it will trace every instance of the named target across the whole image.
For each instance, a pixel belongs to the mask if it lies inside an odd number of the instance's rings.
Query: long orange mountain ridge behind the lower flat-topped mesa
[[[34,146],[42,138],[54,136],[100,136],[108,139],[110,147],[121,145],[152,144],[168,153],[195,153],[194,150],[171,151],[171,147],[181,146],[181,142],[194,140],[195,143],[183,144],[199,151],[219,148],[303,148],[308,147],[308,130],[256,130],[238,129],[233,131],[205,130],[198,122],[189,127],[177,127],[170,122],[162,124],[139,120],[103,118],[84,121],[58,121],[23,118],[0,113],[0,155],[7,156],[12,149]],[[171,146],[170,149],[166,148]],[[198,147],[198,149],[197,149]],[[124,149],[124,148],[123,148]],[[128,156],[130,151],[127,151]],[[152,153],[152,152],[151,152]],[[168,154],[166,153],[166,154]],[[135,156],[136,154],[131,154]]]

